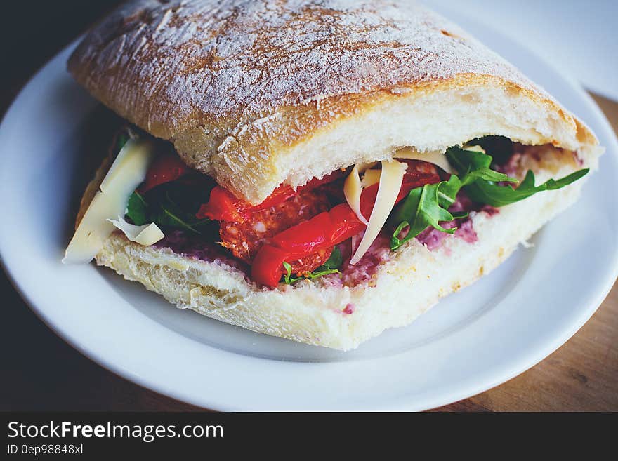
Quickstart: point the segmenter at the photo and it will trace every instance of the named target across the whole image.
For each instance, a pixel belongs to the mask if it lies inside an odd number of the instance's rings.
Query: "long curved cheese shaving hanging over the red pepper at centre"
[[[352,259],[350,259],[350,264],[354,265],[360,261],[360,258],[363,257],[364,253],[367,253],[369,246],[374,243],[374,240],[380,233],[388,215],[390,215],[390,211],[395,206],[406,168],[406,163],[396,160],[382,161],[382,173],[380,175],[376,204],[372,210],[372,215],[369,216],[369,224],[367,229],[365,229],[364,236],[362,236],[358,248],[356,248]]]

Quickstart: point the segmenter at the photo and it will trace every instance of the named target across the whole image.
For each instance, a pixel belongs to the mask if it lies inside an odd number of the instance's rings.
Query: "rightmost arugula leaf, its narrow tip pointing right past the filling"
[[[489,181],[475,181],[473,184],[466,187],[466,193],[473,201],[487,203],[488,205],[496,207],[505,206],[510,203],[515,203],[516,201],[527,199],[537,192],[560,189],[561,187],[570,185],[572,182],[586,175],[589,171],[589,168],[584,168],[583,170],[575,171],[559,180],[550,179],[541,185],[534,186],[534,173],[532,173],[532,170],[528,170],[525,179],[517,189],[513,189],[513,187],[510,186],[499,186]]]

